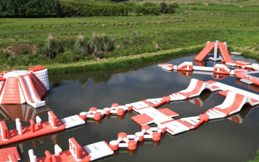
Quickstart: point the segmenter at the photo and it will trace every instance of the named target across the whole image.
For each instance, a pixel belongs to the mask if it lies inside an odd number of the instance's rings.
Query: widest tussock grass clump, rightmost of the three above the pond
[[[106,34],[93,33],[90,41],[90,49],[98,58],[104,57],[105,51],[112,51],[114,49],[114,41]]]

